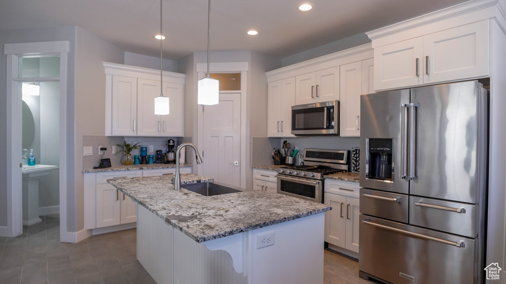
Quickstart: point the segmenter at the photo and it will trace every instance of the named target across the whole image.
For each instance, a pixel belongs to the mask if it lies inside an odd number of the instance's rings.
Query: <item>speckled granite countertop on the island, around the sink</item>
[[[173,175],[108,179],[140,205],[198,243],[322,213],[330,206],[285,195],[244,191],[201,196],[175,191]],[[213,181],[195,174],[182,174],[184,184]]]

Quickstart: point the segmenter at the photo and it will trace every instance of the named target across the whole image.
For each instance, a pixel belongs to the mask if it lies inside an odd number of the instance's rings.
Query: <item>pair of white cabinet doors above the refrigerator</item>
[[[489,76],[489,21],[374,48],[374,89]]]

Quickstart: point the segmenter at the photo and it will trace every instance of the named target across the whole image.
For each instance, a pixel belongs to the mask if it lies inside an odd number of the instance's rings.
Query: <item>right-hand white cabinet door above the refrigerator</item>
[[[488,20],[424,36],[424,83],[489,74]]]

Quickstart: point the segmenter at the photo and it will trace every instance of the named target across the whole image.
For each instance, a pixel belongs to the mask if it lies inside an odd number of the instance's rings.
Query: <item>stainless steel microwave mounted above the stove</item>
[[[291,134],[339,135],[339,101],[291,107]]]

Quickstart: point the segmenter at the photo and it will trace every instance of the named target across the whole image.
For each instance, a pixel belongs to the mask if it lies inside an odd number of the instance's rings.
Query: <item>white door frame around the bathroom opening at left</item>
[[[23,233],[21,168],[21,101],[18,77],[18,58],[26,55],[60,56],[60,242],[74,242],[67,238],[67,57],[69,41],[47,41],[5,44],[7,55],[7,227],[0,227],[0,235]],[[18,153],[18,154],[15,154]],[[16,191],[16,188],[19,188]]]

